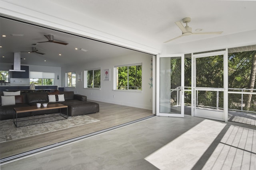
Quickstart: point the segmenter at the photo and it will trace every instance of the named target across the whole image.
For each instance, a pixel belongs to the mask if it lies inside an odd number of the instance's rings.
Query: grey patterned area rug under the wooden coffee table
[[[73,116],[68,117],[68,119],[63,119],[63,117],[61,117],[59,113],[56,113],[56,115],[51,115],[52,116],[50,117],[48,115],[38,115],[33,117],[20,118],[18,119],[18,121],[21,122],[18,122],[18,126],[30,124],[28,126],[23,127],[15,127],[13,119],[0,121],[0,143],[100,121],[88,115]],[[24,119],[30,120],[22,121]],[[62,120],[47,122],[53,119]],[[39,123],[39,121],[46,123],[31,125],[35,122]]]

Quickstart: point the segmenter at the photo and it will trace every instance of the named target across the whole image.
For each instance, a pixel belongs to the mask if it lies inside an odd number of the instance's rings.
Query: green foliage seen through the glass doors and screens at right
[[[250,73],[252,68],[252,57],[256,51],[246,51],[228,54],[228,88],[248,88],[250,84]],[[224,64],[222,56],[202,57],[196,59],[196,86],[223,88],[224,86]],[[180,86],[180,59],[171,59],[171,88]],[[185,58],[185,86],[191,87],[191,57]],[[255,86],[256,87],[256,84]],[[172,100],[176,99],[176,92],[172,93]],[[223,108],[224,93],[219,92],[219,108]],[[241,109],[241,94],[228,94],[230,109]],[[243,97],[247,98],[246,95]],[[198,92],[198,104],[203,106],[217,107],[217,92]],[[185,92],[185,104],[191,104],[191,92]],[[243,101],[245,103],[245,101]],[[244,108],[243,108],[244,109]],[[252,96],[250,111],[256,110],[256,95]]]

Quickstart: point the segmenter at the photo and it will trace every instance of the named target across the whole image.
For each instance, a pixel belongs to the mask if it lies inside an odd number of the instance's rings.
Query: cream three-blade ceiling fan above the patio
[[[168,41],[165,41],[164,43],[168,43],[174,39],[186,36],[186,35],[191,35],[191,34],[221,34],[223,31],[218,31],[218,32],[197,32],[197,33],[192,33],[192,28],[188,26],[188,23],[191,21],[191,18],[186,17],[182,19],[183,23],[186,23],[186,26],[184,27],[183,24],[180,21],[175,22],[176,25],[180,28],[182,31],[182,35],[175,37],[173,39],[170,39]]]

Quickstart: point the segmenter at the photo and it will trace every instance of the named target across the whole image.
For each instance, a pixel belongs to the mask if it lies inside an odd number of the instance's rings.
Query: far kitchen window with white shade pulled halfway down
[[[54,85],[55,72],[30,71],[30,84]]]

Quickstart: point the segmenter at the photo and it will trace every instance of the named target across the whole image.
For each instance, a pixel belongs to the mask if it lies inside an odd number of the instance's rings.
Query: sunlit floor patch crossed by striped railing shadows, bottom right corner
[[[204,170],[256,169],[256,130],[231,125]]]

